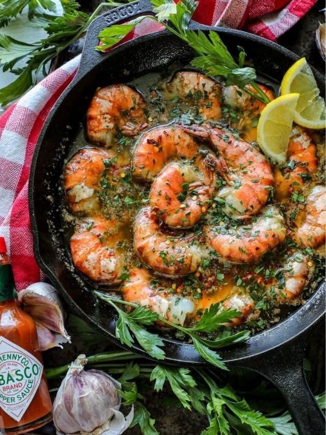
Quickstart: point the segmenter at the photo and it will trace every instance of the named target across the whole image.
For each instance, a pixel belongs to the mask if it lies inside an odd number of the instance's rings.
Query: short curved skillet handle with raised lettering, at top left
[[[101,30],[110,25],[121,24],[144,14],[153,15],[152,5],[149,0],[137,0],[136,2],[126,3],[95,18],[87,29],[82,58],[80,59],[74,81],[79,75],[84,75],[84,72],[90,71],[103,60],[104,54],[95,50],[95,47],[98,45],[98,34]]]

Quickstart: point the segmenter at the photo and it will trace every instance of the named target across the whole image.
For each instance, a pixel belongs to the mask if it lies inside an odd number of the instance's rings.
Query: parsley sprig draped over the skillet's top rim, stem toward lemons
[[[129,21],[128,24],[112,25],[102,30],[98,35],[102,45],[98,45],[96,49],[102,51],[112,47],[130,33],[136,24],[149,18],[163,24],[166,29],[195,50],[197,57],[191,62],[193,66],[206,71],[207,75],[221,75],[225,78],[227,86],[236,85],[262,103],[269,102],[267,95],[255,83],[255,69],[243,66],[246,53],[241,47],[238,46],[239,62],[236,63],[216,32],[210,31],[206,36],[202,31],[188,29],[198,2],[181,0],[176,4],[173,0],[151,0],[151,3],[156,16],[141,16]],[[171,22],[173,27],[168,22]],[[255,92],[248,89],[247,85],[251,85]]]

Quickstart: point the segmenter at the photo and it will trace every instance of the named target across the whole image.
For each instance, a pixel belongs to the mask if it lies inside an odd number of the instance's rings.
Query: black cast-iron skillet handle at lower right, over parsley
[[[325,416],[304,373],[303,360],[310,335],[311,330],[309,336],[300,335],[285,345],[234,364],[260,373],[274,383],[287,403],[299,435],[321,435],[325,431]]]

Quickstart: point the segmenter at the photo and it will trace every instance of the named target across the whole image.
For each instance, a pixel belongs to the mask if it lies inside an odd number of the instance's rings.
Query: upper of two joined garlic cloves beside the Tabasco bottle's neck
[[[70,343],[64,326],[64,310],[57,290],[47,283],[35,283],[18,293],[24,311],[51,331],[58,332]]]

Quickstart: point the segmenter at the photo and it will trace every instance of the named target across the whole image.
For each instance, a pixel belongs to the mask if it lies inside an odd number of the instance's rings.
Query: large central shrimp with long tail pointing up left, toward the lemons
[[[195,136],[207,138],[219,151],[217,169],[228,187],[218,196],[225,201],[225,212],[234,219],[248,219],[259,212],[268,199],[274,177],[265,157],[248,142],[236,139],[228,130],[205,125],[182,125]]]

